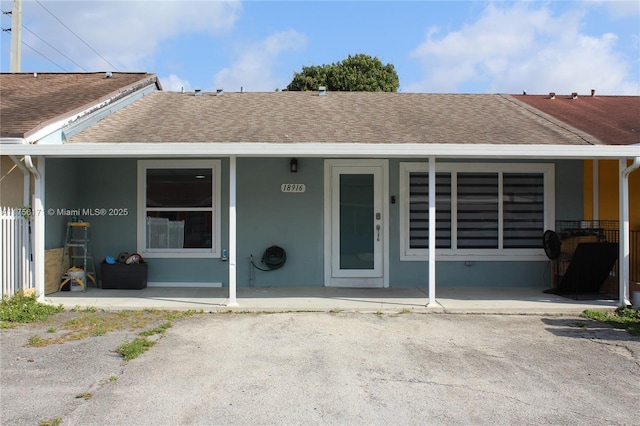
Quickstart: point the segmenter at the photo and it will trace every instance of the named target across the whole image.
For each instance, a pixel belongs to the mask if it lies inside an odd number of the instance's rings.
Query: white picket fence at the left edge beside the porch
[[[0,217],[0,278],[2,297],[33,287],[29,221],[25,209],[2,207]]]

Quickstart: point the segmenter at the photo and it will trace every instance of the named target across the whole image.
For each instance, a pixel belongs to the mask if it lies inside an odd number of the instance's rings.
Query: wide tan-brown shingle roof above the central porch
[[[510,96],[153,92],[71,143],[598,144]]]

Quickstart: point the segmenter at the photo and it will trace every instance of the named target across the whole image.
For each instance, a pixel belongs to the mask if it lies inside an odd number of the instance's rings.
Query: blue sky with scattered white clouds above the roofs
[[[303,66],[363,53],[393,64],[400,92],[640,95],[638,0],[24,0],[22,9],[23,72],[144,71],[164,90],[266,92]],[[10,33],[1,37],[8,72]]]

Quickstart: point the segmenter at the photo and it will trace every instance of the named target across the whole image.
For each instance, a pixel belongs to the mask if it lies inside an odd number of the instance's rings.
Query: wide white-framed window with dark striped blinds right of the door
[[[401,163],[401,260],[426,260],[428,163]],[[441,260],[537,259],[554,220],[553,164],[438,163],[436,248]]]

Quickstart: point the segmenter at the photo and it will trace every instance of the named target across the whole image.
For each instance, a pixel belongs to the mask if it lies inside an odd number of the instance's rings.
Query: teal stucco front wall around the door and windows
[[[238,287],[324,285],[324,160],[298,158],[298,172],[289,171],[290,158],[237,159],[237,285]],[[389,161],[389,283],[391,287],[427,287],[426,261],[400,260],[399,165]],[[411,160],[415,161],[415,160]],[[582,218],[582,161],[555,163],[556,218]],[[137,159],[47,159],[45,177],[46,248],[62,247],[69,217],[64,209],[126,209],[127,214],[85,216],[91,222],[96,263],[105,256],[137,250]],[[305,192],[283,193],[285,183],[304,184]],[[222,158],[221,247],[229,249],[229,160]],[[390,200],[386,200],[391,203]],[[542,237],[542,236],[541,236]],[[264,272],[265,249],[285,249],[284,267]],[[221,283],[228,286],[229,264],[219,258],[146,259],[149,282]],[[438,261],[438,286],[548,287],[548,262]]]

